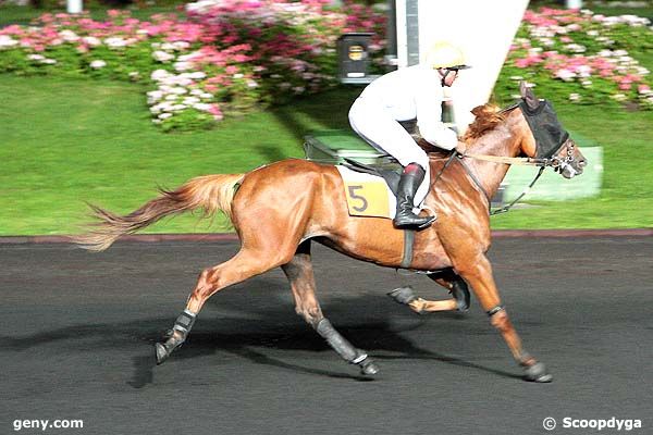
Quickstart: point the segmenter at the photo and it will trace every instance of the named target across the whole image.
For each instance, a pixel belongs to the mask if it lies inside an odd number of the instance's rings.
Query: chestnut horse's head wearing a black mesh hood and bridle
[[[522,82],[517,108],[525,120],[521,152],[530,158],[547,159],[565,178],[582,174],[587,160],[557,119],[551,102],[535,98]]]

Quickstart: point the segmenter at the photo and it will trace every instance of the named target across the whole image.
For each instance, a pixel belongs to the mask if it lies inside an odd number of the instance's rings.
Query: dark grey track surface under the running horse
[[[525,346],[554,375],[521,370],[472,297],[468,314],[419,316],[385,293],[422,276],[313,245],[325,314],[381,368],[358,376],[294,313],[271,271],[215,295],[188,341],[153,343],[202,268],[236,243],[0,246],[0,434],[19,419],[82,419],[78,434],[616,434],[562,419],[640,419],[653,433],[653,238],[497,239],[496,281]],[[553,417],[558,428],[546,432]],[[625,431],[621,431],[621,433]],[[23,430],[21,433],[41,433]]]

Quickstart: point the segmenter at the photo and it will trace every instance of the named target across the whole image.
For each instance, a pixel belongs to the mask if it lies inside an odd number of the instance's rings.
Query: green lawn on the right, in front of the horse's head
[[[540,202],[492,217],[494,228],[630,228],[653,226],[653,112],[605,112],[556,104],[563,124],[603,147],[596,198]]]

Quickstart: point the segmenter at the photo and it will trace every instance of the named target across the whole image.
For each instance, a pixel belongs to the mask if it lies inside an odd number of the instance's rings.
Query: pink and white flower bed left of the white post
[[[383,28],[371,8],[328,0],[201,0],[186,16],[150,22],[46,14],[0,29],[0,72],[143,82],[152,121],[196,129],[258,104],[283,102],[335,83],[335,40]],[[379,33],[381,35],[381,33]],[[374,47],[382,48],[377,39]]]

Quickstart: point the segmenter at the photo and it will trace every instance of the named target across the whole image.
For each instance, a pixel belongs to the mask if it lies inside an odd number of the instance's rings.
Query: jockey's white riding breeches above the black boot
[[[415,195],[415,206],[429,192],[429,157],[412,136],[395,120],[390,110],[372,98],[358,98],[349,110],[352,128],[372,147],[397,159],[402,166],[417,163],[426,171],[424,179]]]

